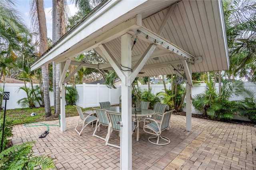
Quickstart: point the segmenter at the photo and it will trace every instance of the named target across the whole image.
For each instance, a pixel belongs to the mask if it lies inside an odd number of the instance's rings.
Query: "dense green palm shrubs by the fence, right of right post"
[[[216,93],[212,84],[208,83],[204,93],[192,97],[192,105],[199,111],[204,111],[210,117],[230,120],[239,113],[239,101],[230,101],[231,97],[245,93],[242,81],[222,80],[221,95]]]

